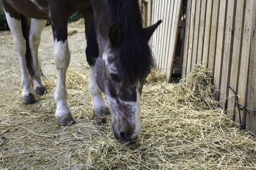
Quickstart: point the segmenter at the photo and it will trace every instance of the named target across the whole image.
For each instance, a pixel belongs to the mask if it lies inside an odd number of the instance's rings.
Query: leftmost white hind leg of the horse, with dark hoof
[[[16,53],[19,56],[19,62],[20,62],[20,68],[22,73],[22,98],[24,104],[32,104],[35,103],[35,97],[34,97],[34,91],[31,87],[31,79],[30,75],[28,74],[27,66],[26,66],[26,40],[23,37],[22,34],[22,25],[20,22],[20,15],[19,18],[11,18],[9,13],[6,14],[6,19],[8,22],[8,25],[11,29],[11,32],[13,33],[14,37],[14,48],[16,50]]]

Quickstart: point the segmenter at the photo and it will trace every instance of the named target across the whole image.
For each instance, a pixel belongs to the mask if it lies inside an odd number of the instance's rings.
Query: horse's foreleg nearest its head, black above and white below
[[[81,14],[84,16],[85,20],[85,35],[86,35],[86,58],[90,66],[90,94],[93,99],[93,113],[94,116],[105,116],[110,114],[110,110],[106,101],[102,96],[102,91],[96,83],[95,77],[95,64],[98,58],[98,42],[94,26],[94,17],[93,17],[93,8],[92,6],[88,7],[85,11],[81,11]]]

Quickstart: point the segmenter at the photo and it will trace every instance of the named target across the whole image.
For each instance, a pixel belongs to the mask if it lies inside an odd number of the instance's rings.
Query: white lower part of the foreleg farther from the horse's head
[[[71,110],[67,103],[67,90],[65,86],[66,71],[69,66],[71,54],[68,49],[68,41],[55,40],[55,66],[57,69],[57,87],[55,90],[55,101],[57,103],[57,109],[55,112],[56,117],[63,117]]]

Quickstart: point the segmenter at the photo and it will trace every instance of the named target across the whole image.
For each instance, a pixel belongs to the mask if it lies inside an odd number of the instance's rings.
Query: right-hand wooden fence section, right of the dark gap
[[[212,71],[216,99],[230,118],[240,124],[235,112],[239,103],[256,109],[256,0],[188,0],[183,77],[196,63]],[[256,134],[256,113],[241,111],[241,125]]]

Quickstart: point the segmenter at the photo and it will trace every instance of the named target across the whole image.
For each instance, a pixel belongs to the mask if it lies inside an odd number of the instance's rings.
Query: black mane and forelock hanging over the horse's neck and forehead
[[[105,0],[111,23],[122,23],[124,36],[119,69],[129,83],[146,78],[154,67],[154,57],[142,33],[142,14],[138,0]]]

